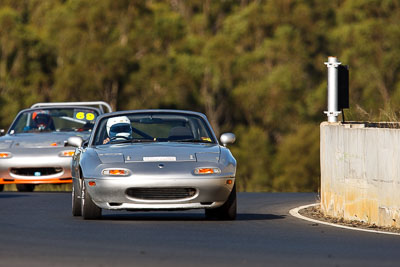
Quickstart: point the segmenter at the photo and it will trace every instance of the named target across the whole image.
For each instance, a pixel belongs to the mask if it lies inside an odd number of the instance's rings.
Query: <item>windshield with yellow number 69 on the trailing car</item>
[[[98,116],[96,109],[45,108],[24,111],[11,125],[9,133],[91,131]]]

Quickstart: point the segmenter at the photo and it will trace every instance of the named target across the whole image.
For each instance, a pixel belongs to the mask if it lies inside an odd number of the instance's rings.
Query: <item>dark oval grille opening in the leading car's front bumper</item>
[[[195,188],[162,187],[162,188],[128,188],[126,194],[129,197],[144,200],[179,200],[193,197]]]

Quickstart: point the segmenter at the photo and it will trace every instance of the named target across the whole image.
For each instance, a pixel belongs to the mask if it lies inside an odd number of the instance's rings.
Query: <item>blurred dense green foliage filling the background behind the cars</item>
[[[35,102],[204,112],[231,131],[238,187],[319,181],[330,55],[350,66],[349,119],[397,119],[396,0],[0,0],[0,126]]]

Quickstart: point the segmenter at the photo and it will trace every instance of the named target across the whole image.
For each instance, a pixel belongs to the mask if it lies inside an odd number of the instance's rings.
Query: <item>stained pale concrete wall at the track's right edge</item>
[[[320,130],[322,211],[400,227],[400,129],[324,122]]]

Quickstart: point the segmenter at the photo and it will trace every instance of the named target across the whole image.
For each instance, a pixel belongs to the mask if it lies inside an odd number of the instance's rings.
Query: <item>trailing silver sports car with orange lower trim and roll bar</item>
[[[101,101],[38,103],[20,111],[0,137],[0,191],[4,184],[16,184],[18,191],[26,192],[37,184],[71,183],[75,149],[65,147],[67,139],[88,139],[104,111],[111,108]]]

